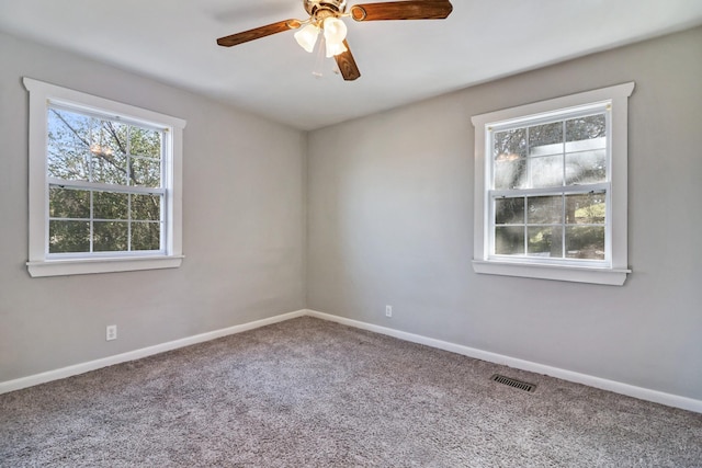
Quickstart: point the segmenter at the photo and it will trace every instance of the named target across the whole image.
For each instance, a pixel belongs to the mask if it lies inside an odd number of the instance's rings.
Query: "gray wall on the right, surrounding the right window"
[[[700,57],[695,28],[312,133],[307,306],[702,399]],[[626,284],[475,274],[471,116],[626,81]]]

